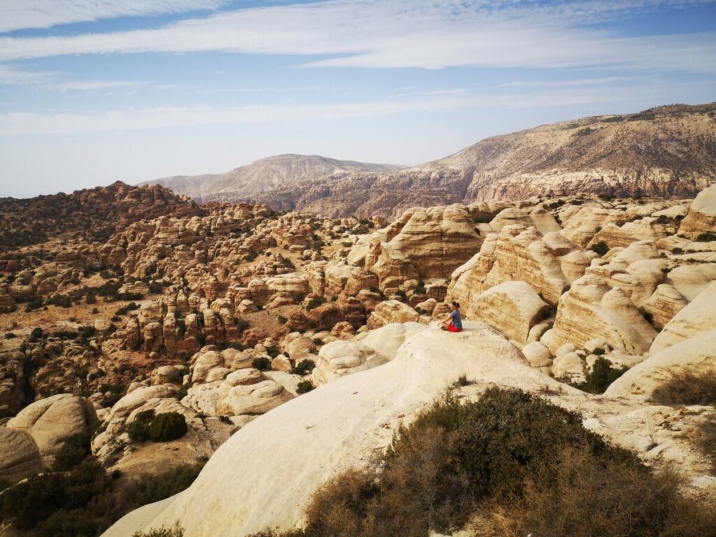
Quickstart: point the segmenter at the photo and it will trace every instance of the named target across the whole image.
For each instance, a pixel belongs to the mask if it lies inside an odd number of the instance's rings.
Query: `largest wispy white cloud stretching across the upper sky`
[[[590,23],[663,4],[618,0],[322,1],[241,9],[160,29],[69,37],[0,38],[0,60],[62,54],[224,51],[331,56],[309,67],[614,66],[716,72],[716,33],[619,37]]]

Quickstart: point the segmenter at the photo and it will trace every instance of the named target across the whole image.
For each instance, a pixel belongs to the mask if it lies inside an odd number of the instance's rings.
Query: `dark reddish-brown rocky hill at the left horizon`
[[[130,186],[121,181],[72,194],[0,198],[0,251],[73,232],[88,240],[105,240],[142,219],[202,214],[194,201],[168,188]]]

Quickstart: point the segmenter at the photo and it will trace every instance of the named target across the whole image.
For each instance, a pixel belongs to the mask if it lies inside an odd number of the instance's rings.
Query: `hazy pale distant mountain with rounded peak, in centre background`
[[[306,180],[320,180],[334,173],[387,172],[405,166],[357,163],[319,155],[276,155],[262,158],[227,173],[178,175],[147,181],[160,184],[199,202],[251,200],[256,195]]]

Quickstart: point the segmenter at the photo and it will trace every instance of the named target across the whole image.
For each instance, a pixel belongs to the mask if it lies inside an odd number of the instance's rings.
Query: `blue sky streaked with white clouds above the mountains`
[[[716,101],[716,0],[0,0],[0,197]]]

